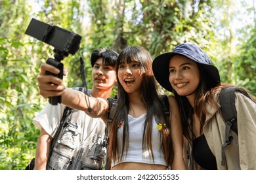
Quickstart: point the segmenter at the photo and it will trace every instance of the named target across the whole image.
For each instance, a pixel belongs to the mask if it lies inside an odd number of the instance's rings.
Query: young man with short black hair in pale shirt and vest
[[[110,97],[116,83],[117,56],[113,50],[104,48],[93,52],[93,88],[88,91],[89,95],[104,99]],[[64,131],[56,136],[64,108],[66,106],[62,104],[53,106],[48,103],[33,119],[33,123],[41,130],[34,169],[102,169],[106,160],[106,125],[100,118],[91,118],[85,112],[73,109]],[[51,149],[53,138],[56,142]]]

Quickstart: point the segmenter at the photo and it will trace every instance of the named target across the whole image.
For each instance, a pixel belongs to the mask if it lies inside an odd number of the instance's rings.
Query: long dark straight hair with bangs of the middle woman
[[[131,63],[136,60],[140,62],[140,67],[143,71],[142,85],[140,86],[140,96],[144,107],[146,108],[146,120],[144,124],[142,148],[148,148],[151,152],[152,159],[154,160],[154,154],[152,150],[152,121],[153,116],[159,119],[158,123],[164,126],[164,114],[161,110],[160,97],[158,96],[156,80],[152,71],[152,58],[147,50],[140,46],[130,46],[124,48],[117,58],[116,73],[118,73],[119,65],[121,63]],[[117,75],[117,74],[116,74]],[[117,75],[118,76],[118,75]],[[110,159],[121,159],[123,157],[124,150],[128,150],[129,146],[129,97],[123,87],[121,86],[119,79],[117,79],[118,86],[118,107],[116,116],[114,117],[112,128],[110,132]],[[117,130],[119,122],[123,122],[123,139],[122,144],[118,144]],[[173,160],[173,146],[171,143],[171,131],[169,129],[169,122],[167,126],[161,131],[161,137],[163,139],[163,149],[165,152],[165,161],[170,165]],[[121,146],[121,152],[119,152],[119,146]]]

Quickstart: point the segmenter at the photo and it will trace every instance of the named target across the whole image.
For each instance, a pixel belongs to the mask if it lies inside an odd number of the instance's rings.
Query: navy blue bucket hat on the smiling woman
[[[173,92],[173,88],[169,82],[169,62],[175,55],[185,56],[186,58],[196,61],[203,68],[207,80],[207,89],[211,90],[215,86],[221,84],[221,78],[217,67],[211,65],[211,60],[201,48],[196,44],[182,43],[179,44],[173,52],[167,52],[157,56],[153,61],[153,72],[158,83],[168,90]]]

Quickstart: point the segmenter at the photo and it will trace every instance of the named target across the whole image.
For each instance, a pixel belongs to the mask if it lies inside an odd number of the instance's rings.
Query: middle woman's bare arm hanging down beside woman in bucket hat
[[[175,97],[169,96],[171,112],[171,138],[173,139],[173,163],[171,169],[186,169],[183,159],[183,132],[181,125],[181,115]]]

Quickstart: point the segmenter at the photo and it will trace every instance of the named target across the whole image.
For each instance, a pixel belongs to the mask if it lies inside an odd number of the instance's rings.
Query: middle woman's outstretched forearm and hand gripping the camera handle
[[[58,74],[59,70],[52,65],[43,63],[41,65],[40,75],[37,77],[39,92],[45,97],[62,96],[62,103],[68,107],[76,108],[87,112],[93,118],[102,118],[106,120],[108,110],[108,101],[103,98],[88,97],[83,92],[66,88],[62,80],[52,75],[46,75],[46,71]],[[88,108],[92,111],[89,112]]]

